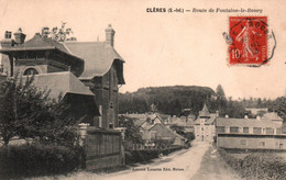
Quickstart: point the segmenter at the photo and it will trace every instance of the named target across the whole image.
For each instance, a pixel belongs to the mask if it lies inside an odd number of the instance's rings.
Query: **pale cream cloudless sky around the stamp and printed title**
[[[0,40],[22,27],[26,40],[43,26],[72,27],[79,42],[105,41],[116,31],[114,48],[125,60],[121,92],[162,86],[222,85],[227,97],[277,98],[286,92],[286,2],[283,0],[0,0]],[[184,13],[146,12],[179,8]],[[193,9],[257,9],[260,12],[186,12]],[[229,16],[265,15],[277,47],[267,66],[228,65]],[[271,45],[271,43],[270,43]]]

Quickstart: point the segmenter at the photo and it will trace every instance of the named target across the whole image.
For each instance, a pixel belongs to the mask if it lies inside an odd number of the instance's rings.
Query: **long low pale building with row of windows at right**
[[[223,119],[216,121],[217,146],[229,149],[286,149],[282,126],[268,119]]]

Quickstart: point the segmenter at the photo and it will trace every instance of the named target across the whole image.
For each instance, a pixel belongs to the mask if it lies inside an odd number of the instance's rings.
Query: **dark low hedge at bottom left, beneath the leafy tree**
[[[66,173],[81,164],[82,150],[26,144],[0,147],[0,179]]]

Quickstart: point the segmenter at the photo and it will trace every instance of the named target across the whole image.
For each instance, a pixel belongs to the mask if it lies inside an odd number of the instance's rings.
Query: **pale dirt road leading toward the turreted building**
[[[41,178],[50,179],[51,177]],[[51,179],[61,180],[224,180],[239,178],[213,153],[209,143],[194,143],[189,149],[154,159],[147,165],[138,164],[112,173],[76,172]],[[226,180],[227,180],[226,179]]]

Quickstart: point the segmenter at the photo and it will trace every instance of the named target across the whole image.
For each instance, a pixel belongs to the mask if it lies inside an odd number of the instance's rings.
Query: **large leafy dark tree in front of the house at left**
[[[4,145],[12,137],[69,144],[78,138],[69,105],[59,97],[50,98],[50,90],[38,90],[33,77],[18,75],[0,81],[0,136]]]

